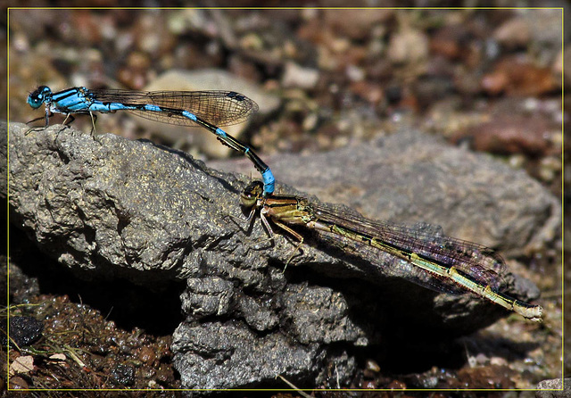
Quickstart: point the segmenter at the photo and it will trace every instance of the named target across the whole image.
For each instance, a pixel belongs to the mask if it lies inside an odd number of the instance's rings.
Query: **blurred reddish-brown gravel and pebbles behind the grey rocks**
[[[236,90],[260,104],[240,133],[259,153],[368,141],[409,118],[558,194],[561,35],[560,10],[12,10],[10,119],[42,116],[25,103],[39,85]],[[154,139],[164,128],[124,114],[97,124]],[[219,146],[191,152],[230,154]]]

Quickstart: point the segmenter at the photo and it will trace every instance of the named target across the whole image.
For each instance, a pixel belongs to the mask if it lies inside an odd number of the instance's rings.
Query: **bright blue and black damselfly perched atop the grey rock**
[[[217,126],[229,126],[248,118],[258,110],[258,104],[234,91],[135,91],[114,89],[88,89],[72,87],[54,93],[50,87],[40,86],[28,96],[28,104],[39,108],[46,104],[46,127],[53,112],[112,113],[128,111],[145,119],[176,125],[202,126],[218,137],[219,141],[243,153],[260,171],[264,195],[274,192],[275,178],[266,163],[235,137]],[[94,122],[95,125],[95,122]],[[94,126],[95,127],[95,126]]]

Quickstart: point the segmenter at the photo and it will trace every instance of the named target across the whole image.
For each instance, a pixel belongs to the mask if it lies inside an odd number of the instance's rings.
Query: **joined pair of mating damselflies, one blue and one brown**
[[[310,203],[294,195],[273,195],[274,176],[266,163],[235,137],[218,126],[244,121],[258,109],[251,99],[233,91],[133,91],[87,89],[72,87],[52,92],[49,87],[38,87],[28,97],[28,104],[37,109],[46,104],[46,126],[52,112],[68,116],[73,113],[128,111],[150,120],[177,125],[198,125],[214,133],[219,141],[243,153],[261,172],[263,183],[253,181],[241,196],[244,206],[251,208],[251,216],[259,210],[261,221],[271,234],[268,220],[272,220],[297,239],[296,250],[303,236],[292,226],[302,226],[325,232],[336,239],[349,239],[366,247],[368,258],[377,253],[388,253],[409,264],[410,280],[414,274],[425,273],[434,279],[428,286],[443,286],[444,291],[462,290],[477,294],[515,311],[526,319],[541,320],[542,307],[527,304],[501,293],[501,274],[505,263],[499,255],[483,245],[448,236],[435,236],[385,222],[368,220],[328,206]],[[335,239],[335,237],[334,237]],[[422,284],[427,286],[426,284]],[[446,289],[446,286],[451,286]]]

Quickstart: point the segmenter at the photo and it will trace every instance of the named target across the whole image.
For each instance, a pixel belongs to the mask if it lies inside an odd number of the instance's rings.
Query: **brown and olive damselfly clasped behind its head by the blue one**
[[[262,223],[269,234],[272,229],[268,219],[294,236],[299,242],[295,251],[302,245],[303,236],[291,226],[301,225],[327,234],[330,239],[349,239],[361,247],[360,250],[367,250],[368,258],[388,253],[410,269],[411,281],[423,286],[448,286],[450,288],[439,290],[472,292],[526,319],[539,321],[542,318],[541,306],[524,303],[498,291],[505,262],[483,245],[449,236],[434,236],[422,229],[368,220],[347,211],[310,203],[300,196],[264,197],[260,181],[252,181],[244,188],[241,203],[251,209],[250,219],[254,211],[260,209]],[[418,273],[424,274],[424,278],[415,278]],[[426,279],[431,282],[423,282]]]

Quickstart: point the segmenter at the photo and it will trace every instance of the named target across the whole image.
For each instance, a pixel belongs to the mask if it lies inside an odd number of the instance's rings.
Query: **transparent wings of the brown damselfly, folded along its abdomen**
[[[359,214],[353,214],[325,205],[311,205],[317,220],[335,224],[356,232],[350,239],[343,239],[343,250],[360,255],[384,267],[385,274],[408,278],[422,286],[447,293],[460,293],[462,289],[447,278],[434,274],[414,265],[414,261],[395,259],[388,261],[381,255],[382,249],[369,245],[369,238],[384,242],[405,253],[414,253],[423,260],[432,261],[445,268],[455,267],[461,273],[483,286],[500,289],[505,285],[505,262],[492,249],[472,242],[443,235],[441,227],[419,223],[413,227],[393,225],[387,222],[368,220]],[[335,244],[336,234],[324,235]],[[352,240],[352,243],[349,241]],[[390,255],[390,253],[389,253]]]

